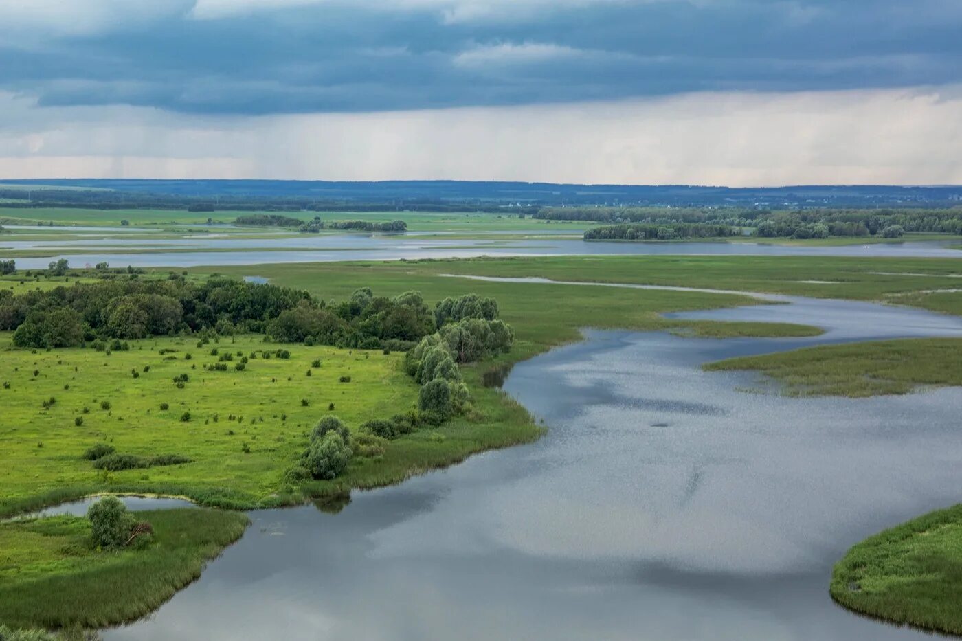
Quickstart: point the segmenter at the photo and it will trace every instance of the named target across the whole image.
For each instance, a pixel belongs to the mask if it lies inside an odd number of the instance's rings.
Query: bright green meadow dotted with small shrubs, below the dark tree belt
[[[91,348],[3,351],[0,381],[10,388],[0,389],[0,514],[102,490],[188,496],[220,506],[290,502],[293,498],[281,496],[281,475],[321,416],[336,414],[356,428],[407,410],[417,398],[418,386],[398,367],[402,354],[265,344],[262,338],[226,338],[204,347],[197,347],[195,338],[135,341],[130,351],[110,355]],[[10,334],[0,341],[9,346]],[[246,370],[235,372],[240,361],[235,355],[227,363],[231,371],[206,372],[203,366],[219,358],[210,355],[214,346],[245,355],[283,347],[291,358],[265,360],[259,354]],[[176,351],[161,354],[162,349]],[[322,361],[319,369],[311,367],[316,358]],[[143,372],[144,366],[150,371]],[[173,382],[180,373],[190,376],[184,389]],[[341,375],[350,375],[351,382],[340,383]],[[56,403],[43,408],[50,397]],[[310,404],[302,406],[302,398]],[[111,409],[101,409],[102,401]],[[169,409],[161,410],[162,402]],[[328,411],[331,402],[334,412]],[[181,421],[185,412],[189,422]],[[75,424],[77,418],[82,425]],[[405,439],[387,449],[386,465],[406,460],[395,455],[395,449],[406,451]],[[176,453],[193,462],[105,474],[81,458],[97,442],[123,453]],[[241,451],[244,444],[249,453]],[[365,470],[376,467],[365,464]]]

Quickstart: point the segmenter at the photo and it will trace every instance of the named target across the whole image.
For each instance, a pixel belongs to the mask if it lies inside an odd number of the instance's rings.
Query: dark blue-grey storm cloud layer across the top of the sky
[[[955,0],[59,4],[0,2],[0,90],[262,115],[962,81]]]

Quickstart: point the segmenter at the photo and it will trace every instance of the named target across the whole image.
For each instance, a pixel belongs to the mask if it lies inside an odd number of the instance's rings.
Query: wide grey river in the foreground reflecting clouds
[[[531,284],[531,287],[538,287]],[[828,598],[850,545],[958,500],[962,389],[868,399],[738,391],[728,356],[962,321],[792,298],[687,316],[809,322],[817,339],[589,331],[519,364],[536,444],[253,512],[199,581],[110,639],[927,639]]]

